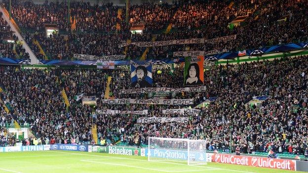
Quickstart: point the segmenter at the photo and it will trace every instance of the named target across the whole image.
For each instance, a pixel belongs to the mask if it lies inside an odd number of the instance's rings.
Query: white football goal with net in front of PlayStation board
[[[206,140],[149,137],[148,160],[206,165]]]

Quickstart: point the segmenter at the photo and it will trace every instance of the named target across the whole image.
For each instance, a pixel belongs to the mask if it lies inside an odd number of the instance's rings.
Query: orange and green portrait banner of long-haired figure
[[[204,56],[186,57],[184,66],[184,86],[203,85]]]

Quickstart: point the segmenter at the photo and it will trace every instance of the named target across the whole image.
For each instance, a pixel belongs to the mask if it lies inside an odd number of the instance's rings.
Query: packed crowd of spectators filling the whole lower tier
[[[163,96],[166,99],[194,98],[194,105],[209,97],[218,99],[201,108],[198,115],[163,115],[164,109],[185,108],[181,105],[106,105],[108,76],[112,98],[152,98],[150,94],[120,95],[120,89],[130,85],[129,69],[53,69],[21,70],[1,67],[1,99],[8,103],[10,113],[1,107],[2,122],[10,123],[15,117],[19,123],[29,123],[40,138],[63,143],[92,140],[91,127],[97,124],[98,136],[129,144],[147,143],[147,137],[207,139],[209,149],[228,149],[241,146],[243,152],[288,151],[303,153],[307,147],[307,56],[286,60],[264,61],[242,65],[218,66],[204,73],[206,92],[178,93]],[[278,71],[278,72],[277,72]],[[172,75],[172,80],[170,80]],[[177,81],[177,82],[175,82]],[[173,74],[154,71],[154,87],[183,87],[183,67]],[[260,81],[263,81],[260,83]],[[66,107],[61,96],[65,89],[71,103]],[[93,109],[74,100],[84,93],[96,96]],[[253,96],[268,95],[261,105],[245,105]],[[149,117],[189,117],[188,124],[139,124],[136,115],[95,114],[95,109],[149,110]],[[77,143],[78,143],[77,142]],[[231,142],[231,143],[230,143]],[[292,150],[291,150],[292,148]]]

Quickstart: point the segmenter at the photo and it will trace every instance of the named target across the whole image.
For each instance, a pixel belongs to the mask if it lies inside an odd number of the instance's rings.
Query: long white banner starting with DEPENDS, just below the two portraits
[[[206,91],[205,86],[199,87],[186,87],[186,88],[136,88],[120,90],[120,94],[143,94],[143,93],[156,93],[156,92],[166,92],[166,93],[182,93],[182,92],[204,92]]]

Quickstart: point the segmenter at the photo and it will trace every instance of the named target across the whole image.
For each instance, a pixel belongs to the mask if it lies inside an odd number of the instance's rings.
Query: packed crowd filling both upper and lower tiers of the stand
[[[4,2],[7,2],[4,0]],[[270,3],[269,3],[270,2]],[[132,42],[215,38],[237,35],[235,40],[215,44],[185,44],[151,47],[147,59],[170,58],[175,51],[239,51],[269,45],[308,41],[307,0],[191,0],[191,4],[142,4],[130,7],[129,23],[120,20],[119,7],[113,4],[91,6],[86,2],[72,2],[71,16],[76,21],[72,30],[67,21],[67,4],[34,4],[32,1],[12,0],[12,17],[22,35],[39,59],[74,60],[75,53],[88,55],[121,55],[125,47],[118,44]],[[7,8],[7,7],[6,7]],[[0,14],[2,15],[2,14]],[[236,17],[248,15],[245,24],[230,26]],[[280,20],[285,17],[285,20]],[[122,14],[124,18],[124,14]],[[304,19],[304,20],[303,20]],[[133,24],[145,24],[141,34],[131,34]],[[46,37],[44,24],[55,24],[59,33]],[[118,30],[116,24],[120,24]],[[164,33],[171,24],[171,32]],[[233,28],[232,28],[233,27]],[[8,35],[15,43],[2,41],[0,57],[29,59],[7,23],[0,18],[0,38]],[[127,46],[126,59],[140,59],[145,48]],[[183,86],[183,67],[153,71],[154,87]],[[3,126],[29,124],[42,143],[89,144],[93,141],[92,127],[104,144],[147,144],[147,138],[207,139],[209,150],[231,151],[239,145],[243,153],[262,155],[269,149],[277,153],[303,155],[308,146],[308,57],[285,57],[240,65],[215,66],[204,72],[206,92],[168,94],[168,99],[194,99],[194,105],[209,98],[207,107],[199,115],[163,115],[164,109],[182,108],[175,105],[106,105],[103,104],[108,76],[111,98],[148,99],[153,96],[121,95],[120,89],[130,88],[129,69],[22,69],[0,66],[0,145],[12,146],[14,137],[6,138]],[[65,90],[70,106],[61,95]],[[84,93],[96,96],[97,105],[74,100]],[[247,106],[256,96],[269,96],[262,104]],[[5,106],[9,112],[5,111]],[[9,107],[9,108],[8,108]],[[138,124],[136,115],[99,115],[95,109],[145,110],[149,117],[189,117],[188,124]],[[96,138],[96,137],[95,137]],[[24,139],[23,143],[33,141]],[[231,143],[230,143],[231,142]]]

